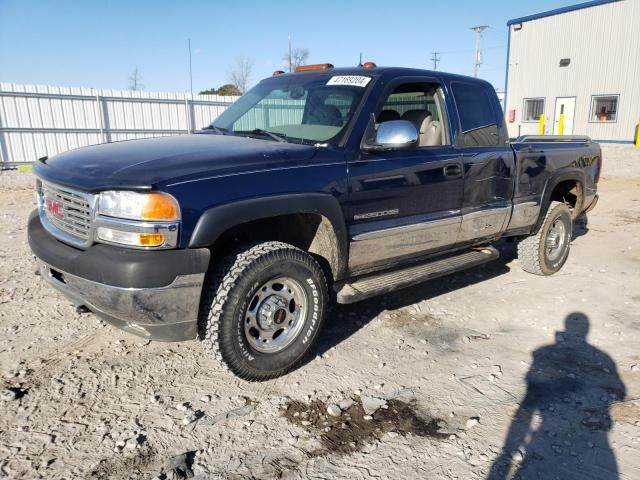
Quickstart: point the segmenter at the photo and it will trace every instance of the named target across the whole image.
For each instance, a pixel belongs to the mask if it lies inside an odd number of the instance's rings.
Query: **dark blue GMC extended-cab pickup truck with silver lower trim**
[[[587,137],[510,141],[487,82],[408,68],[276,72],[197,134],[37,162],[29,243],[73,303],[236,375],[300,364],[331,301],[497,258],[557,272],[597,201]]]

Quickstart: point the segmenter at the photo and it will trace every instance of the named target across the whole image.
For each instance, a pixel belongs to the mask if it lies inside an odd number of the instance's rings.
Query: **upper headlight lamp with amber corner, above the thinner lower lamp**
[[[176,199],[161,192],[102,192],[98,199],[98,213],[129,220],[171,221],[180,218]]]

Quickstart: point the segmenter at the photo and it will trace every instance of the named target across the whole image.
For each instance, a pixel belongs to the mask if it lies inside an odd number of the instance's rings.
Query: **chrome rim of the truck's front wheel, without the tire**
[[[251,348],[275,353],[298,337],[307,316],[307,293],[290,277],[265,282],[251,297],[244,315],[244,333]]]

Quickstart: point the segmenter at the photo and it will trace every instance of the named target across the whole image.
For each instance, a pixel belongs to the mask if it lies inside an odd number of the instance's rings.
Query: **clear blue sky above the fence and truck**
[[[536,0],[0,0],[0,82],[126,89],[137,66],[146,90],[227,83],[235,59],[253,60],[251,83],[283,67],[291,35],[309,63],[431,68],[471,75],[473,25],[483,38],[480,76],[504,87],[507,20],[577,1]]]

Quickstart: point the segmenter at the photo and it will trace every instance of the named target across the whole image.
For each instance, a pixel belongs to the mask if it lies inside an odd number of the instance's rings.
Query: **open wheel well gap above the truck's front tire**
[[[328,280],[339,276],[337,235],[331,221],[323,215],[295,213],[236,225],[224,232],[211,246],[212,256],[215,261],[239,244],[259,241],[289,243],[313,255]]]

